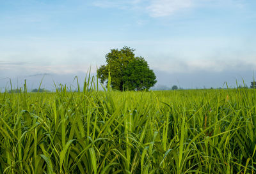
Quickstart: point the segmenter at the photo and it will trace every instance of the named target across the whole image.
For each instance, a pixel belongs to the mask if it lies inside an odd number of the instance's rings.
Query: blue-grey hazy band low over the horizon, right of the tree
[[[243,85],[244,83],[250,86],[250,82],[253,80],[253,71],[241,71],[225,69],[221,72],[212,72],[204,70],[196,70],[190,73],[187,72],[177,72],[168,73],[166,71],[156,70],[154,71],[157,76],[157,84],[165,85],[166,87],[172,87],[172,85],[177,85],[184,89],[196,89],[196,88],[218,88],[227,87],[225,82],[227,82],[228,87],[236,87],[236,81]]]

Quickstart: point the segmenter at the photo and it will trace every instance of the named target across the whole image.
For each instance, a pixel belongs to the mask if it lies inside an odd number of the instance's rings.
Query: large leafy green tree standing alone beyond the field
[[[141,91],[154,86],[157,82],[154,71],[143,57],[136,57],[134,51],[126,46],[121,50],[112,49],[105,56],[107,64],[97,71],[100,82],[108,82],[110,73],[111,87],[116,90]]]

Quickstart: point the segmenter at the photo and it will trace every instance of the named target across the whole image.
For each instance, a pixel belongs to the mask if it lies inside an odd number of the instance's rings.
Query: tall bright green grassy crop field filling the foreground
[[[255,92],[5,92],[0,173],[256,173]]]

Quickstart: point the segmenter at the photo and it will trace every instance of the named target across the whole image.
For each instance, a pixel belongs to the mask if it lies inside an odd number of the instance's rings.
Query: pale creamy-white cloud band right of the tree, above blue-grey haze
[[[189,59],[186,55],[160,56],[152,55],[149,59],[150,67],[168,73],[193,73],[196,71],[209,71],[220,73],[224,71],[256,71],[255,55],[239,55],[239,53],[205,54],[198,58]]]

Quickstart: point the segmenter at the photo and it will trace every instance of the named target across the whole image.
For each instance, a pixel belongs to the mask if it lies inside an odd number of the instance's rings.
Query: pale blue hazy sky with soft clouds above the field
[[[0,89],[83,82],[113,48],[135,48],[157,86],[250,86],[255,0],[0,0]]]

